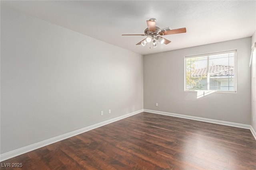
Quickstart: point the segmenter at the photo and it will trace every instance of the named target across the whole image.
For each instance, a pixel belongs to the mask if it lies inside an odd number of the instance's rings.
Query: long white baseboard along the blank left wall
[[[53,138],[50,138],[50,139],[46,139],[44,141],[41,141],[41,142],[38,142],[38,143],[34,143],[32,145],[28,145],[26,147],[22,147],[22,148],[19,148],[19,149],[15,149],[15,150],[12,150],[10,152],[6,152],[6,153],[3,153],[3,154],[0,154],[0,161],[4,161],[4,160],[7,160],[7,159],[10,159],[10,158],[13,158],[15,156],[18,156],[18,155],[21,155],[21,154],[24,154],[26,152],[30,152],[32,150],[35,150],[35,149],[38,149],[38,148],[41,148],[41,147],[45,147],[47,145],[50,145],[52,143],[56,143],[58,141],[62,141],[64,139],[67,139],[67,138],[70,138],[70,137],[73,137],[73,136],[76,136],[76,135],[79,135],[81,133],[84,133],[84,132],[87,132],[87,131],[90,131],[92,129],[96,129],[98,127],[101,127],[101,126],[104,126],[104,125],[107,125],[109,123],[113,123],[115,121],[118,121],[118,120],[121,120],[121,119],[124,119],[126,117],[130,117],[132,115],[136,115],[138,113],[141,113],[143,111],[143,109],[141,110],[138,110],[138,111],[134,111],[132,113],[128,113],[126,115],[122,115],[122,116],[119,116],[119,117],[115,117],[113,119],[109,119],[109,120],[106,120],[106,121],[103,121],[103,122],[100,122],[100,123],[96,123],[94,125],[91,125],[91,126],[88,126],[88,127],[84,127],[82,129],[78,129],[76,131],[72,131],[72,132],[69,132],[69,133],[66,133],[66,134],[63,134],[63,135],[60,135],[60,136],[57,136],[57,137],[53,137]]]

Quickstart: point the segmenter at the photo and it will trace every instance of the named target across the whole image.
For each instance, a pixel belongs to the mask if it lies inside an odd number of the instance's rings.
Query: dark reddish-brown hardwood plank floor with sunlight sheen
[[[1,162],[1,170],[256,170],[248,129],[142,112]]]

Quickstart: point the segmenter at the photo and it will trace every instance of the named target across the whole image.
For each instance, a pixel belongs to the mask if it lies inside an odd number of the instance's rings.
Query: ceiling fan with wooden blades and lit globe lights
[[[160,29],[156,26],[156,18],[150,18],[147,21],[148,27],[145,29],[144,34],[122,34],[122,35],[141,35],[147,36],[142,41],[138,42],[136,45],[145,46],[146,43],[150,43],[152,41],[153,47],[157,46],[157,41],[160,44],[168,44],[172,41],[163,38],[163,35],[170,35],[170,34],[178,34],[178,33],[186,33],[186,28],[178,28],[178,29],[170,29],[170,27]]]

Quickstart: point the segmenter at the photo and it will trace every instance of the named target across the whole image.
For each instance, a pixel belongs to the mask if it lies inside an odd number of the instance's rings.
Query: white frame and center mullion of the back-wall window
[[[225,53],[235,53],[234,56],[234,77],[235,77],[235,84],[234,84],[234,90],[191,90],[191,89],[186,89],[186,59],[188,58],[194,58],[194,57],[208,57],[208,63],[209,63],[209,56],[210,55],[218,55],[218,54],[225,54]],[[207,69],[208,69],[209,64],[207,64]],[[207,75],[207,84],[208,84],[208,89],[209,89],[209,75]],[[214,91],[214,92],[225,92],[225,93],[236,93],[237,92],[237,50],[228,50],[228,51],[221,51],[221,52],[216,52],[216,53],[206,53],[206,54],[200,54],[200,55],[190,55],[190,56],[185,56],[184,57],[184,91],[188,92],[197,92],[197,91]]]

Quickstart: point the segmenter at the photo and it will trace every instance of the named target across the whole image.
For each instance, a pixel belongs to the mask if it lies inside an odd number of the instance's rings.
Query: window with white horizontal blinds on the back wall
[[[236,92],[236,50],[185,57],[185,90]]]

